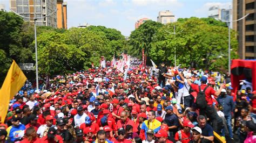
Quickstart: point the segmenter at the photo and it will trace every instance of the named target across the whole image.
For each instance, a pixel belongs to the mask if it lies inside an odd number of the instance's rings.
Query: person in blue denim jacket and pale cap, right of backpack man
[[[232,124],[231,124],[231,119],[232,119],[231,112],[234,112],[233,97],[227,95],[227,92],[225,89],[221,89],[220,96],[217,98],[217,101],[220,105],[223,106],[223,112],[227,121],[228,134],[230,135],[230,138],[233,138]]]

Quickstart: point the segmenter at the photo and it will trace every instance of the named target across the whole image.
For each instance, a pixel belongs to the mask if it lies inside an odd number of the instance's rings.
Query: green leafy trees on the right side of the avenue
[[[151,36],[152,40],[148,40],[146,44],[150,45],[147,46],[147,57],[157,64],[164,61],[173,66],[176,51],[177,65],[181,63],[183,67],[227,69],[228,28],[225,23],[213,18],[179,18],[176,23],[156,28],[154,38],[152,27],[143,25],[131,34],[129,44],[131,51],[134,51],[131,52],[132,55],[141,55],[140,51],[145,47],[138,45],[143,45],[147,37],[144,31],[150,31],[149,37]],[[137,49],[134,45],[137,45]],[[235,53],[238,42],[234,31],[231,32],[231,47],[231,58],[237,58]]]

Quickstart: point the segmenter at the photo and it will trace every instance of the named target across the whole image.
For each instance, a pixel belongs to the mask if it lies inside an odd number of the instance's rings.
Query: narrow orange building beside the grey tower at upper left
[[[63,2],[63,0],[57,0],[57,9],[57,27],[66,29],[66,2]]]

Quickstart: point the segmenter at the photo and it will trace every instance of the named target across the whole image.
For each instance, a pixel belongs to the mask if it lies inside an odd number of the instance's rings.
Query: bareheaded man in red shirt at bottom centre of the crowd
[[[121,112],[120,117],[121,119],[117,121],[116,130],[118,128],[125,129],[126,125],[131,125],[133,126],[133,132],[138,132],[138,129],[136,128],[134,121],[128,118],[126,111]]]

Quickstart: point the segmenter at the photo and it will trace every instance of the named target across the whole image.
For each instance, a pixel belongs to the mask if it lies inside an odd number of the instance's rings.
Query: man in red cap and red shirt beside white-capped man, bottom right
[[[182,143],[188,143],[192,141],[191,128],[194,127],[194,125],[191,123],[190,120],[184,120],[183,125],[184,125],[183,130],[179,130],[175,134],[174,139]]]

